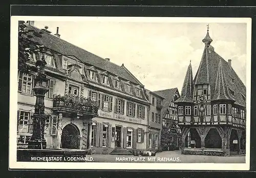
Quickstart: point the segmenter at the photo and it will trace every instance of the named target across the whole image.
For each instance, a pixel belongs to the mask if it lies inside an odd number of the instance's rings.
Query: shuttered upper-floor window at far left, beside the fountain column
[[[18,91],[32,94],[32,82],[32,74],[18,72]]]

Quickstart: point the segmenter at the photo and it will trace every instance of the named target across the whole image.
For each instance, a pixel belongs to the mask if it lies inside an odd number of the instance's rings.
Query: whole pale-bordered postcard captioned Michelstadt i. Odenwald
[[[12,16],[10,58],[10,168],[249,170],[250,18]]]

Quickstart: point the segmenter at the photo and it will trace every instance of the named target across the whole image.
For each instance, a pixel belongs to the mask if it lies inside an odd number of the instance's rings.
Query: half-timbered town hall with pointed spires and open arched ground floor
[[[178,105],[183,153],[220,154],[245,151],[246,87],[231,66],[210,45],[207,34],[203,56],[193,80],[189,64]],[[187,151],[189,148],[190,152]],[[210,149],[207,149],[210,148]]]

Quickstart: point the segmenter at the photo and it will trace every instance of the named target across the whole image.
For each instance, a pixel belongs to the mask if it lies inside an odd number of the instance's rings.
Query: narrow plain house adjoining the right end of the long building
[[[148,148],[160,149],[164,98],[147,89],[146,94],[148,95],[148,100],[151,103],[150,110],[148,112]]]

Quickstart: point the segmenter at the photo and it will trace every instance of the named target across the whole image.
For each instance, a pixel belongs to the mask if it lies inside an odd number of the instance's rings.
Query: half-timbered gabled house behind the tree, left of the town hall
[[[170,88],[165,90],[154,91],[154,93],[162,96],[163,100],[163,117],[162,125],[167,126],[168,128],[177,128],[178,127],[178,112],[177,105],[174,103],[180,97],[178,88]],[[172,142],[176,142],[175,149],[179,149],[179,139],[178,137],[173,137]]]

